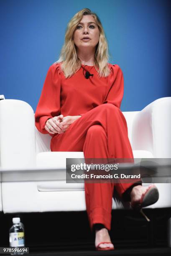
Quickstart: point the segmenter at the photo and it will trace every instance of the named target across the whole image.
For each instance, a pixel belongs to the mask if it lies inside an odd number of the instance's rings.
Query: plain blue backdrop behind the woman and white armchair
[[[171,96],[171,1],[0,0],[0,94],[36,110],[48,68],[59,58],[66,25],[82,8],[97,13],[110,63],[124,74],[122,111]]]

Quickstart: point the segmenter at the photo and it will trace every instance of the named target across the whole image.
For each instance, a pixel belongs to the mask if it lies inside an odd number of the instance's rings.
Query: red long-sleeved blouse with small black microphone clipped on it
[[[83,74],[84,67],[84,74]],[[80,115],[104,103],[112,103],[117,108],[123,98],[123,72],[118,65],[109,64],[108,77],[98,77],[94,66],[82,67],[70,78],[60,72],[60,63],[52,64],[47,72],[35,112],[38,131],[47,134],[46,121],[58,115]],[[94,74],[84,77],[85,69]],[[49,133],[52,137],[55,134]]]

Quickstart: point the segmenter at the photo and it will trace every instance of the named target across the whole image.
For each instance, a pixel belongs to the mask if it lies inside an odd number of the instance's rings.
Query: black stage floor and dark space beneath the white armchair
[[[110,230],[115,251],[95,251],[87,212],[0,213],[0,247],[9,246],[12,218],[20,217],[25,227],[25,245],[33,256],[91,255],[170,255],[168,218],[171,208],[144,209],[147,222],[139,212],[112,210]],[[2,254],[1,254],[2,255]]]

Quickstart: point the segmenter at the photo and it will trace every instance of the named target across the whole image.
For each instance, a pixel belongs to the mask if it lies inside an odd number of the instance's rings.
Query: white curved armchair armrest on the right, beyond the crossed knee
[[[150,151],[154,158],[171,158],[171,97],[153,101],[133,122],[133,150]]]

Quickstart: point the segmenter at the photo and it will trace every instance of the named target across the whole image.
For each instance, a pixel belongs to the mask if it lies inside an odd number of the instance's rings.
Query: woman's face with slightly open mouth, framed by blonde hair
[[[88,39],[84,39],[87,37]],[[74,31],[74,44],[78,49],[94,48],[99,42],[100,31],[92,15],[84,15]]]

